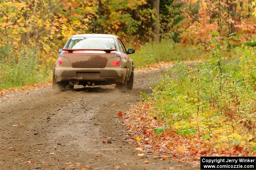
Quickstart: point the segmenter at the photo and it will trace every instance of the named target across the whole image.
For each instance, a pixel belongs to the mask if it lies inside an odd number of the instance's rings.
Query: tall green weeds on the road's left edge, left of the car
[[[36,51],[24,48],[18,52],[19,55],[12,55],[17,51],[9,49],[2,53],[0,62],[0,89],[20,87],[39,82],[48,82],[51,72],[46,70],[47,65],[40,65]],[[19,57],[15,57],[19,56]],[[51,70],[51,69],[50,69]]]

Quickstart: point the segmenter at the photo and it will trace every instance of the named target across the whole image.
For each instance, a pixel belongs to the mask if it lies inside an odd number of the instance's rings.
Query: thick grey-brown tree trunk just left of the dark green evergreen
[[[152,10],[155,10],[155,19],[152,20],[152,30],[153,30],[153,36],[152,40],[154,42],[160,41],[160,19],[159,19],[159,6],[160,6],[160,0],[154,0],[151,4]]]

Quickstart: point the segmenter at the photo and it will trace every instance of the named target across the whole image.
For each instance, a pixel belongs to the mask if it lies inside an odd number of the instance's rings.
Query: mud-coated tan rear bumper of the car
[[[56,66],[56,82],[61,81],[116,81],[123,83],[126,76],[126,68],[105,67],[105,68],[73,68],[71,66]]]

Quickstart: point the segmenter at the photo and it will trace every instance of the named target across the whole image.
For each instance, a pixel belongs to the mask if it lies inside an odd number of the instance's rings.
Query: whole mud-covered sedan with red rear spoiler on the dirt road
[[[133,60],[122,41],[109,34],[78,34],[59,49],[54,68],[53,86],[129,84],[133,76]],[[133,80],[133,77],[132,77]],[[133,84],[133,82],[132,82]]]

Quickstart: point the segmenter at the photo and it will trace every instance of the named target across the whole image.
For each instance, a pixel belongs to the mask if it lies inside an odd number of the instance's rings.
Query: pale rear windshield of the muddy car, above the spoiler
[[[68,49],[116,49],[114,38],[76,37],[71,38]]]

